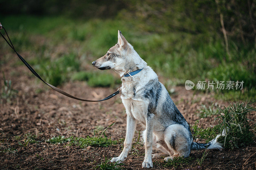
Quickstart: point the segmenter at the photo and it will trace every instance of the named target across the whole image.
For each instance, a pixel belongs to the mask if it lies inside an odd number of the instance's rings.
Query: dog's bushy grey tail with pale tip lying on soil
[[[215,139],[212,139],[210,142],[208,142],[207,144],[203,144],[203,143],[198,143],[198,142],[193,142],[191,144],[191,150],[200,150],[200,149],[221,149],[222,146],[220,143],[217,142],[218,137],[220,137],[220,135],[217,135],[217,137],[215,137]]]

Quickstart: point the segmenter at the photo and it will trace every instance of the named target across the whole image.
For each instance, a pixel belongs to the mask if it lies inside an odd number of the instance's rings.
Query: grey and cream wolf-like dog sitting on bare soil
[[[220,149],[218,136],[207,144],[193,142],[188,122],[172,101],[158,76],[140,58],[118,30],[118,42],[101,58],[92,62],[100,70],[115,70],[122,80],[121,99],[126,109],[126,135],[121,154],[111,162],[123,162],[132,147],[137,121],[145,127],[142,133],[145,158],[142,168],[153,167],[152,159],[164,156],[188,157],[191,150]],[[152,154],[152,150],[163,153]]]

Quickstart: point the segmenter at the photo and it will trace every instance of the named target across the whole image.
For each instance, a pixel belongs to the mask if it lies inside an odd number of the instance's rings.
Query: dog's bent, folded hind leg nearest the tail
[[[164,131],[164,141],[168,148],[172,150],[173,155],[164,158],[165,161],[177,156],[188,157],[190,155],[191,143],[189,131],[180,124],[172,124]]]

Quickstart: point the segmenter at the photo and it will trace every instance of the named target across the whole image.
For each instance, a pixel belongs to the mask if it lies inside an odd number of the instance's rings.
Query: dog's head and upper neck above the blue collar
[[[108,52],[92,65],[100,70],[115,70],[120,76],[133,69],[142,69],[147,65],[132,45],[126,41],[121,31],[118,30],[118,42],[109,48]]]

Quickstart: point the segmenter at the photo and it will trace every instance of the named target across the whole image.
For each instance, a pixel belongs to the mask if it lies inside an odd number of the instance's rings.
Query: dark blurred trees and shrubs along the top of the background
[[[75,18],[135,20],[144,31],[223,34],[250,44],[256,42],[255,0],[0,0],[2,15],[66,15]],[[256,47],[256,43],[255,43]]]

